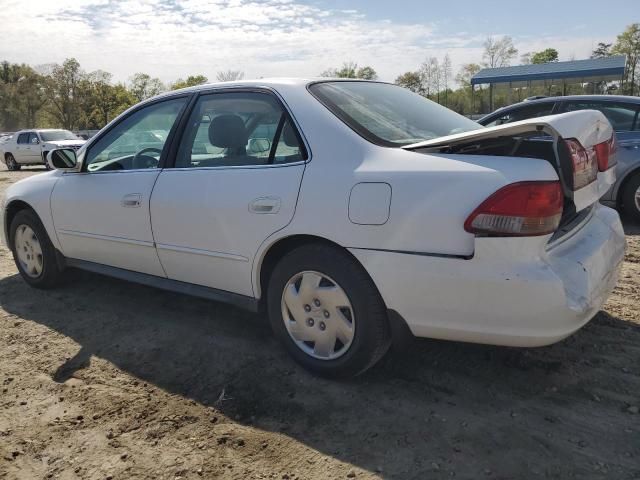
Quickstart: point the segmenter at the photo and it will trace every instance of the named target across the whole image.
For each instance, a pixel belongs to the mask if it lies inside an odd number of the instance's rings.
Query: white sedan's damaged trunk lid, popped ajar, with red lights
[[[422,153],[543,158],[554,165],[564,195],[576,211],[596,203],[615,182],[615,135],[607,118],[596,110],[480,127],[402,148]]]

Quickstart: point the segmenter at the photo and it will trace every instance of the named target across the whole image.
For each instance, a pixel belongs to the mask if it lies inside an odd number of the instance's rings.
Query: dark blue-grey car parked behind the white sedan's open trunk
[[[576,110],[598,110],[616,132],[615,185],[602,197],[603,203],[622,207],[640,220],[640,98],[622,95],[575,95],[542,97],[503,107],[478,120],[485,126],[503,125],[533,117]]]

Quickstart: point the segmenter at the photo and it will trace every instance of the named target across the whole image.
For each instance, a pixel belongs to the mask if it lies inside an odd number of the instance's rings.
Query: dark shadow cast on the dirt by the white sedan
[[[0,280],[5,311],[79,345],[66,361],[51,356],[46,373],[57,382],[99,357],[388,477],[638,473],[627,409],[640,391],[640,326],[624,319],[601,312],[540,349],[416,340],[354,380],[329,381],[297,367],[260,315],[70,273],[52,291],[33,290],[18,275]]]

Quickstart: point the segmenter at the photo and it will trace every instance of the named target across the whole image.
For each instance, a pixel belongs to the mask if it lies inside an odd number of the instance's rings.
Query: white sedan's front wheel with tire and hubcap
[[[56,249],[42,222],[32,210],[20,210],[11,221],[9,241],[20,275],[35,288],[52,288],[60,283],[62,268]]]

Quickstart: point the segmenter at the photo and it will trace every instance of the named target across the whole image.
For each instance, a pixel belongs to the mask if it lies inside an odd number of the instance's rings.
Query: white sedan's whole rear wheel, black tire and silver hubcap
[[[274,333],[304,368],[352,377],[390,345],[387,309],[367,272],[347,252],[313,244],[276,265],[267,308]]]

